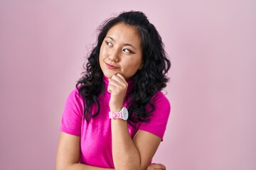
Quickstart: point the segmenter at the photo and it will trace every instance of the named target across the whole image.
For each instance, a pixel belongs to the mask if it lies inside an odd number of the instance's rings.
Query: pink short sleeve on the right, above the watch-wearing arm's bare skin
[[[152,134],[159,136],[161,140],[164,138],[164,132],[171,112],[171,105],[160,91],[153,97],[155,110],[151,113],[149,122],[142,123],[139,130],[151,132]]]

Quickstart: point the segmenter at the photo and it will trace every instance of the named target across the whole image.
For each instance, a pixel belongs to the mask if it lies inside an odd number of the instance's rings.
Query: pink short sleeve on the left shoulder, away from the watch
[[[70,135],[80,136],[83,118],[83,100],[78,90],[73,90],[66,102],[61,119],[60,130]]]

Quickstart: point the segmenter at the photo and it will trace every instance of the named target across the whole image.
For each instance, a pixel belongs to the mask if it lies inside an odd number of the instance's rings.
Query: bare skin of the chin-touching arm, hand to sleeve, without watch
[[[113,75],[112,79],[109,79],[110,111],[121,110],[127,86],[127,81],[122,74]],[[161,138],[139,130],[132,140],[127,128],[127,121],[120,119],[112,119],[111,130],[115,169],[146,169],[159,147]]]

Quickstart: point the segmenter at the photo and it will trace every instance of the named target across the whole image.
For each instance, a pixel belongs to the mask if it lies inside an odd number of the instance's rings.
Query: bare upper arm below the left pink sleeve
[[[80,137],[61,132],[58,142],[56,170],[63,170],[80,160]]]

